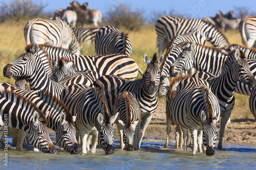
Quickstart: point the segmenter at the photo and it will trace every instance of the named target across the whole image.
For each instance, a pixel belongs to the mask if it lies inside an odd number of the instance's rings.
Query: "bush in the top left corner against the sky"
[[[32,0],[13,0],[0,7],[0,22],[38,17],[47,5],[37,5]]]

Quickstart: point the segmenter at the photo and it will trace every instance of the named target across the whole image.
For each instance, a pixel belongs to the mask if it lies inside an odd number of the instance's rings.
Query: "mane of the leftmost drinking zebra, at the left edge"
[[[23,107],[24,109],[29,111],[36,111],[39,115],[39,121],[40,123],[44,124],[44,125],[48,125],[48,120],[46,118],[46,115],[44,113],[42,113],[42,111],[40,109],[38,109],[38,107],[36,107],[36,105],[34,103],[32,103],[28,98],[26,98],[25,96],[13,92],[9,89],[5,89],[4,91],[0,92],[0,95],[2,95],[4,98],[6,98],[9,101],[12,101],[13,103],[15,103],[16,105]]]

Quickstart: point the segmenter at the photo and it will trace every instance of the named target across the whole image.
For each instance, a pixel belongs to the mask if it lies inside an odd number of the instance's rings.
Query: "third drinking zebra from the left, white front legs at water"
[[[73,115],[76,114],[75,128],[81,140],[81,153],[87,154],[90,144],[89,135],[92,135],[90,152],[96,152],[98,137],[99,146],[105,151],[105,154],[114,154],[112,124],[118,113],[110,117],[101,90],[74,84],[67,86],[62,91],[60,99]]]

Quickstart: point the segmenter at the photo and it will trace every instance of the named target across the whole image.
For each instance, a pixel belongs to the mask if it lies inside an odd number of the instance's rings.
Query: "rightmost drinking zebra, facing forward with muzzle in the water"
[[[174,85],[178,82],[177,90]],[[174,90],[175,89],[175,90]],[[174,78],[166,97],[166,145],[172,123],[181,126],[186,141],[187,129],[193,139],[192,153],[195,155],[201,146],[202,137],[206,155],[215,154],[214,146],[217,138],[217,121],[220,117],[220,105],[216,95],[210,91],[209,84],[198,78]],[[202,133],[203,131],[203,133]],[[198,141],[197,141],[198,137]],[[201,147],[200,147],[201,148]],[[204,147],[203,147],[204,148]],[[184,151],[187,150],[185,142]],[[203,149],[205,151],[205,148]],[[199,150],[199,152],[202,152]]]

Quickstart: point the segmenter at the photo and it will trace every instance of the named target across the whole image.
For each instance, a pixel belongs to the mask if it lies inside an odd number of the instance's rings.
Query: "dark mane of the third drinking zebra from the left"
[[[102,94],[102,91],[98,87],[92,87],[92,91],[93,91],[94,96],[97,98],[99,105],[101,105],[101,106],[103,105],[103,107],[104,107],[103,108],[104,109],[103,110],[104,111],[103,116],[104,116],[106,124],[110,124],[110,115],[109,115],[109,112],[108,112],[108,107],[106,107],[106,103],[104,101],[104,96]]]

